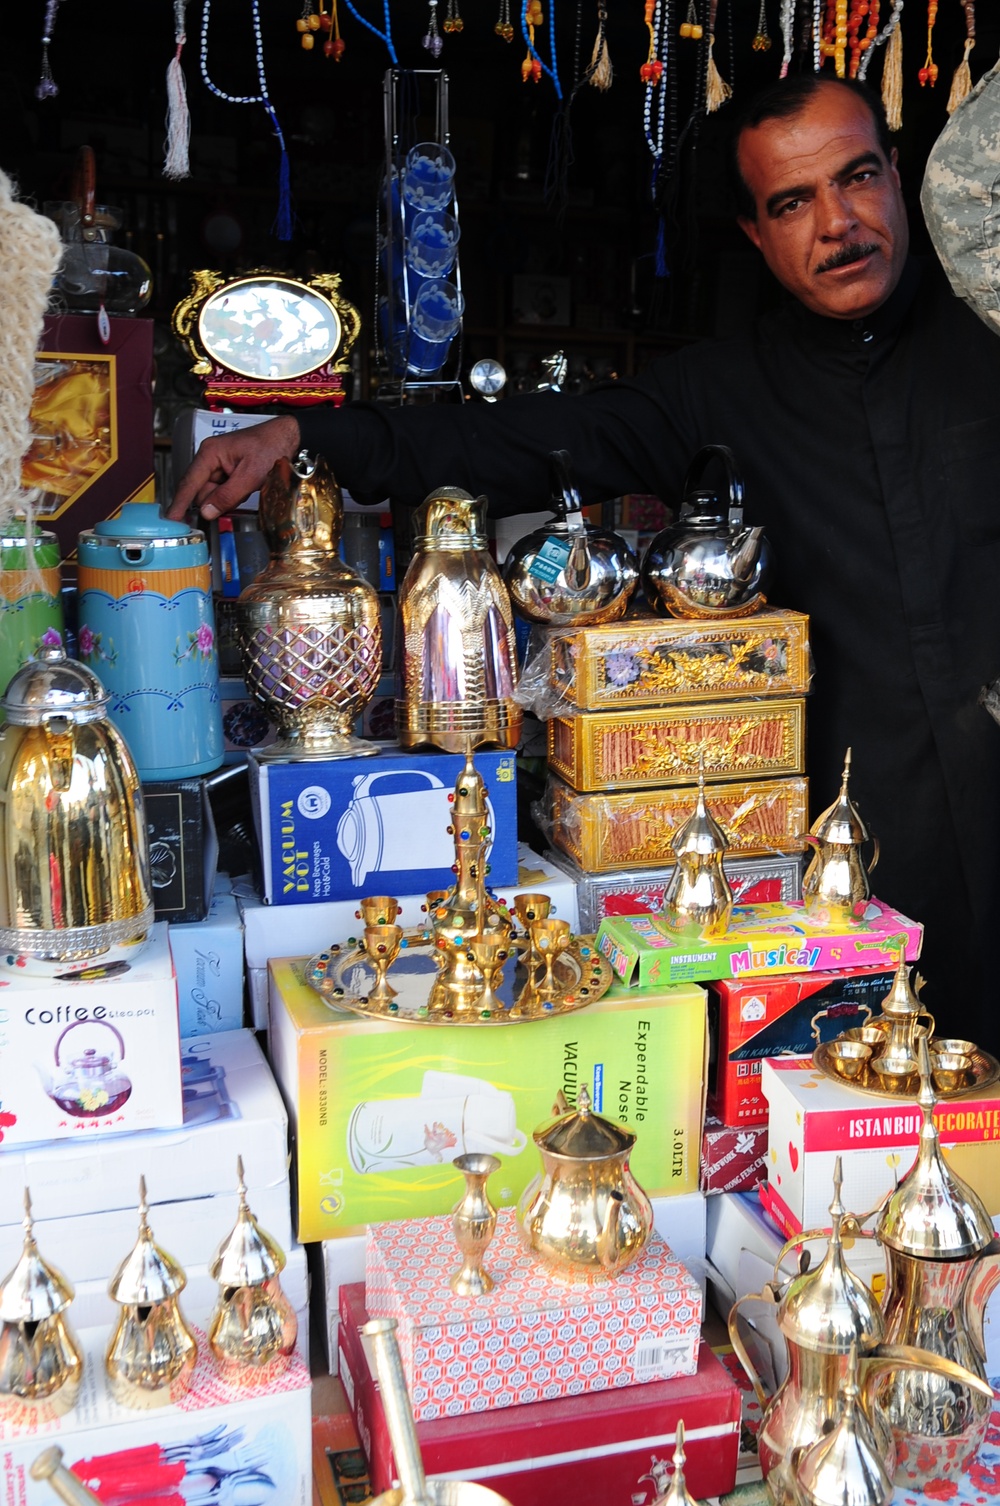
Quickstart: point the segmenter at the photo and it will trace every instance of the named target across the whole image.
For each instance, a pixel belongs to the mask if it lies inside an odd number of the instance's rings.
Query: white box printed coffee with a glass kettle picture
[[[92,1146],[182,1122],[178,983],[166,922],[152,926],[136,959],[113,977],[3,982],[5,1151],[32,1140]]]

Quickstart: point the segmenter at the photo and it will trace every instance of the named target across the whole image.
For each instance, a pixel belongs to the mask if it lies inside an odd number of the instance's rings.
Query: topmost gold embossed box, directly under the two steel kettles
[[[761,611],[724,622],[637,617],[560,633],[550,685],[580,711],[663,706],[809,690],[809,617]]]

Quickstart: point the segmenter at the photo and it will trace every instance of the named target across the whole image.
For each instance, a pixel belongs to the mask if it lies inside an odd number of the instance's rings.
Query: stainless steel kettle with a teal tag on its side
[[[639,584],[636,556],[617,533],[584,520],[568,452],[548,461],[554,517],[518,539],[503,566],[514,610],[554,626],[616,622]]]

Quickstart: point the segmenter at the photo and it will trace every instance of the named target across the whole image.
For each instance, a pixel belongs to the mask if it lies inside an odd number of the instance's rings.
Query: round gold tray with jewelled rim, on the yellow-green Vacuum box
[[[539,997],[527,991],[527,968],[520,956],[524,940],[511,943],[512,956],[505,962],[497,995],[503,1009],[455,1009],[452,998],[438,983],[432,956],[434,937],[429,931],[408,931],[405,952],[389,970],[389,983],[398,989],[396,998],[369,1005],[363,992],[375,980],[375,970],[360,946],[330,947],[310,958],[306,982],[331,1009],[346,1009],[364,1020],[395,1020],[428,1026],[512,1026],[532,1020],[553,1020],[586,1009],[607,994],[614,973],[593,944],[593,937],[574,937],[553,964],[556,994]],[[535,980],[544,976],[544,965],[535,968]]]

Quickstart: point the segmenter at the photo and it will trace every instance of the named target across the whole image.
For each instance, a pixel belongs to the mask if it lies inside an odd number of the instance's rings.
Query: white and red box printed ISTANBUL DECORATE
[[[765,1062],[768,1184],[762,1193],[777,1223],[797,1233],[824,1227],[833,1167],[843,1157],[843,1206],[866,1212],[913,1166],[922,1116],[916,1101],[875,1098],[816,1072],[809,1059]],[[1000,1214],[1000,1083],[934,1111],[949,1164]]]

